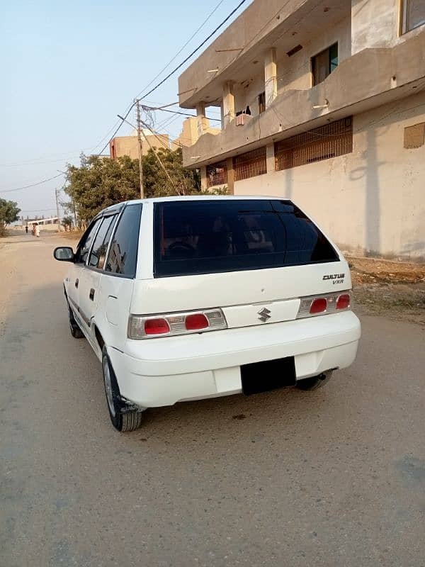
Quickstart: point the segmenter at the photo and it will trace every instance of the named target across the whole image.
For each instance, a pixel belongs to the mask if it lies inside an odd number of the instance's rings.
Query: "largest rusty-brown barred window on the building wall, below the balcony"
[[[274,149],[278,171],[348,154],[353,151],[353,118],[288,137],[276,142]]]

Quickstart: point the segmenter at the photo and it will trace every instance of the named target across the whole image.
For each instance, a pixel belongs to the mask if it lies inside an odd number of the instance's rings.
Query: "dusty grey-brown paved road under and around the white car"
[[[57,237],[0,244],[2,567],[425,565],[425,330],[363,318],[317,393],[150,410],[116,433],[69,335]]]

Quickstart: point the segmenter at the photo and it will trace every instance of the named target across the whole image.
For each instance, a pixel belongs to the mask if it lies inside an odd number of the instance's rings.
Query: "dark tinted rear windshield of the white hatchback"
[[[322,232],[290,201],[205,199],[154,205],[155,277],[336,260]]]

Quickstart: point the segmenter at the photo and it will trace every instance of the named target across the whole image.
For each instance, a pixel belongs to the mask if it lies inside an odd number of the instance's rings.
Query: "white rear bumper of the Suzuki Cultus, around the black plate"
[[[242,391],[240,366],[295,357],[297,379],[356,358],[360,322],[351,311],[200,335],[128,340],[108,349],[121,394],[145,408]],[[261,377],[259,378],[261,379]]]

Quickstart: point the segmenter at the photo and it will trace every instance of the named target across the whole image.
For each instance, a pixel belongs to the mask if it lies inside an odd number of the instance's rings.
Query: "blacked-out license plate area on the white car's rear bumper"
[[[245,395],[295,386],[296,379],[294,357],[241,366],[242,392]]]

